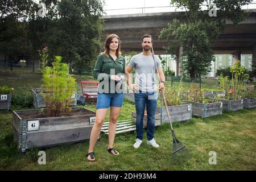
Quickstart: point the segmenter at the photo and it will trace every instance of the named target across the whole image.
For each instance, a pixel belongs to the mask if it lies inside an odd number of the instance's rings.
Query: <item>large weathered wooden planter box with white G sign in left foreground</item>
[[[14,140],[19,151],[89,139],[96,113],[83,107],[73,107],[72,111],[79,112],[79,115],[36,118],[40,109],[13,111]],[[27,115],[35,115],[35,118],[27,119]]]

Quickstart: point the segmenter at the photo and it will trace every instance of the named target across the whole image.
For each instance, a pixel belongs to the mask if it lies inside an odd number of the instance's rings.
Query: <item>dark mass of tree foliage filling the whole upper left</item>
[[[44,10],[32,0],[4,0],[0,50],[39,59],[38,50],[47,46],[51,61],[61,55],[73,68],[92,68],[101,48],[102,1],[43,0]]]

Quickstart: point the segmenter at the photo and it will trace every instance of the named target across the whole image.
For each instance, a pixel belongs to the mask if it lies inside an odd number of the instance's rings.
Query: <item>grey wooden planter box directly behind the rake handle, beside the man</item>
[[[161,115],[161,123],[169,123],[166,107],[157,107],[156,111]],[[168,106],[171,122],[187,121],[192,117],[192,104]]]

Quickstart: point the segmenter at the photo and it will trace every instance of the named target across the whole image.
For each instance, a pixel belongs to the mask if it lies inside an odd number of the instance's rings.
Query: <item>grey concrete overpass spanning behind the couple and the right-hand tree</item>
[[[238,27],[227,20],[223,34],[218,36],[212,45],[214,53],[233,54],[234,61],[240,59],[241,53],[252,53],[253,61],[256,62],[256,9],[247,11],[250,13],[249,17],[239,23]],[[167,42],[158,40],[158,36],[160,31],[167,27],[167,23],[172,23],[174,18],[184,20],[185,12],[104,16],[105,32],[102,34],[101,40],[104,42],[107,35],[115,33],[121,38],[122,51],[141,52],[141,37],[144,34],[150,34],[154,39],[155,53],[164,55],[164,46],[167,45]]]

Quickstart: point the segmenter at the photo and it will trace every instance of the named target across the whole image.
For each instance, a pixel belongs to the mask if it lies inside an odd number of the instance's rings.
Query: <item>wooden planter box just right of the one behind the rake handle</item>
[[[192,104],[192,115],[194,117],[207,118],[213,115],[222,114],[223,102],[201,103],[189,102]]]

